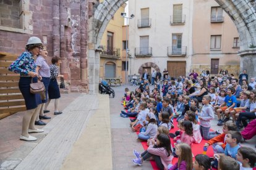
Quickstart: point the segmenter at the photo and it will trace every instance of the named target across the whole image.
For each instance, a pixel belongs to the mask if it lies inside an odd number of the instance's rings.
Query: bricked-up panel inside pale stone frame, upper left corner
[[[20,4],[17,0],[0,0],[0,25],[22,28]],[[22,21],[22,20],[21,20]]]

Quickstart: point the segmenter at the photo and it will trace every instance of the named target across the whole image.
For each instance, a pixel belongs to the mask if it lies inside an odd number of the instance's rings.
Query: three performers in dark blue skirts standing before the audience
[[[53,57],[51,59],[52,65],[49,66],[46,62],[47,56],[46,46],[43,45],[41,39],[32,36],[28,39],[25,52],[9,67],[10,71],[20,74],[19,89],[27,108],[22,119],[20,140],[37,140],[36,137],[30,136],[29,134],[43,132],[43,129],[37,129],[35,125],[43,126],[46,123],[41,121],[41,119],[51,119],[51,117],[45,115],[45,113],[49,112],[47,108],[51,99],[55,99],[54,115],[62,113],[62,111],[58,110],[61,95],[56,80],[59,77],[63,78],[63,75],[59,75],[58,68],[61,59],[59,57]],[[30,91],[30,84],[37,83],[38,81],[43,82],[45,95],[33,94]]]

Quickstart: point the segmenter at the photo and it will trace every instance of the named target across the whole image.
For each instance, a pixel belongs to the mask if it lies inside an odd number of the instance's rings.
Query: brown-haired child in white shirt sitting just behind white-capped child
[[[143,126],[143,121],[145,121],[148,112],[149,110],[147,108],[147,103],[140,103],[140,112],[137,116],[137,119],[134,122],[130,123],[130,126],[132,126],[132,131],[135,131],[134,126],[136,126],[137,124],[140,124],[141,127]]]

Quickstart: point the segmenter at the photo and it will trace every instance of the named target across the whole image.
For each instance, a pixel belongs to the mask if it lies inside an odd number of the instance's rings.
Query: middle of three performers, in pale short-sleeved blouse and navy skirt
[[[43,104],[41,105],[40,108],[40,113],[38,116],[36,116],[36,125],[46,125],[45,122],[41,121],[40,119],[51,119],[49,116],[46,116],[45,113],[43,113],[43,108],[45,107],[45,103],[48,102],[48,86],[50,82],[50,70],[49,70],[49,65],[46,62],[46,57],[48,56],[48,52],[46,49],[46,46],[43,46],[43,49],[38,55],[36,59],[36,73],[38,73],[39,76],[41,76],[41,82],[45,85],[45,91],[46,91],[46,99],[42,100]]]

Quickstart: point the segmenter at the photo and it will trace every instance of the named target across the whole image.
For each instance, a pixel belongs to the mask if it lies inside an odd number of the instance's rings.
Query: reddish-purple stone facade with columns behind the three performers
[[[0,51],[21,54],[30,36],[38,36],[49,57],[61,57],[61,74],[68,91],[88,92],[88,17],[93,2],[87,0],[0,1]]]

